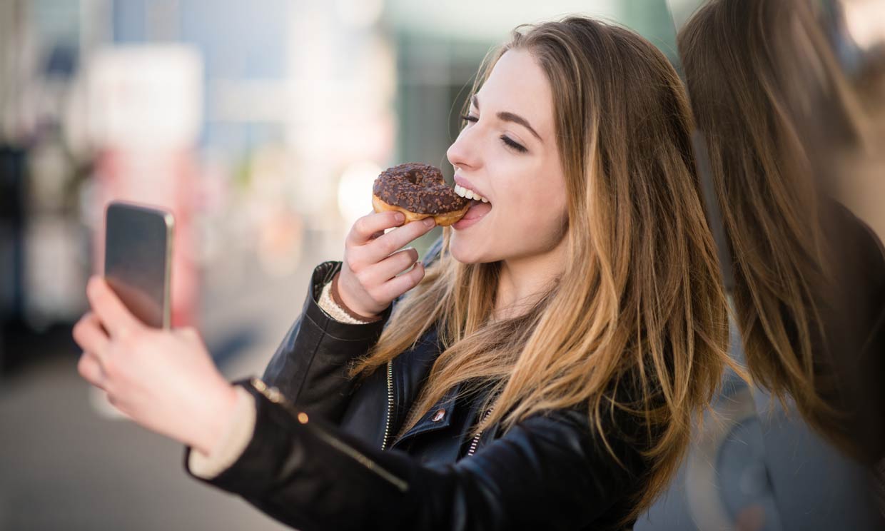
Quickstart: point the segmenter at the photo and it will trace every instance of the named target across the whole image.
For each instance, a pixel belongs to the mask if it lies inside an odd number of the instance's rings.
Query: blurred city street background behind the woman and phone
[[[450,177],[481,59],[567,13],[675,53],[663,0],[0,0],[0,529],[279,528],[76,373],[104,205],[173,211],[173,324],[260,373],[375,176]]]

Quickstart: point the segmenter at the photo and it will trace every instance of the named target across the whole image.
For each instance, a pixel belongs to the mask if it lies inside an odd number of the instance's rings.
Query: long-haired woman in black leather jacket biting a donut
[[[232,389],[193,332],[139,326],[97,280],[81,374],[301,529],[629,527],[727,360],[680,81],[572,17],[518,28],[464,119],[448,157],[489,203],[426,269],[394,251],[430,225],[359,219],[266,383]]]

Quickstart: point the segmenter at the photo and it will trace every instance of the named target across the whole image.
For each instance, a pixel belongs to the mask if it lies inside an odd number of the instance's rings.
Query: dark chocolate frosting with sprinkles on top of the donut
[[[372,191],[387,204],[419,214],[458,211],[470,203],[449,188],[439,168],[418,162],[384,170],[375,179]]]

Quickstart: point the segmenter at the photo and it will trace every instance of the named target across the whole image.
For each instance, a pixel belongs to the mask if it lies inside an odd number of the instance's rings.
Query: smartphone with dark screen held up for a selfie
[[[172,213],[114,201],[104,212],[104,280],[150,327],[170,326]]]

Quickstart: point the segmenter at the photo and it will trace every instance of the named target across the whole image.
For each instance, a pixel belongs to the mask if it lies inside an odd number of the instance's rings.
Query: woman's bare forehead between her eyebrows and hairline
[[[477,97],[480,111],[513,112],[528,120],[542,138],[553,125],[550,81],[526,50],[507,50],[498,59]]]

